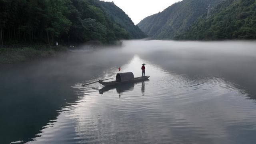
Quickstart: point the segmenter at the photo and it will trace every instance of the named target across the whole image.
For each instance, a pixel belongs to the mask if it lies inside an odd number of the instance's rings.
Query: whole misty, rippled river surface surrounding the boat
[[[150,80],[80,84],[122,72]],[[1,66],[0,143],[252,144],[256,42],[125,41]]]

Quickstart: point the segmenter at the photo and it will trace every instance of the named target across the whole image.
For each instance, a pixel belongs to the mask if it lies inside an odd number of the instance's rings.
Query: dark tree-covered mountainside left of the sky
[[[112,2],[100,0],[0,0],[0,44],[144,38]]]

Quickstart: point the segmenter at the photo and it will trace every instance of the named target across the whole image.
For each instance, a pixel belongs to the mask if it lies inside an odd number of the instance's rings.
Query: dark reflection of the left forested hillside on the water
[[[75,105],[85,95],[84,90],[92,89],[70,86],[102,78],[106,76],[104,72],[114,74],[109,68],[124,65],[133,57],[119,54],[118,48],[111,47],[108,52],[106,48],[0,68],[0,144],[36,139],[45,126],[58,118],[60,110]]]

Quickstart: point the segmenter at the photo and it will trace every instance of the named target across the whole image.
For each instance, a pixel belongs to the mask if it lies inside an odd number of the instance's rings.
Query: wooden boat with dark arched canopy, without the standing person
[[[116,80],[111,82],[103,82],[102,80],[99,80],[99,83],[103,86],[114,86],[118,84],[127,84],[132,82],[140,82],[143,80],[147,80],[150,76],[140,76],[137,78],[134,78],[134,75],[132,72],[125,72],[125,73],[119,73],[116,74]]]

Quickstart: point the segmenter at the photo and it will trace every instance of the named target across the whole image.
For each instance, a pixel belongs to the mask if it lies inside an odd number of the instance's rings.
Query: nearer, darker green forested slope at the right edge
[[[256,0],[226,0],[202,15],[186,32],[186,40],[256,39]]]

